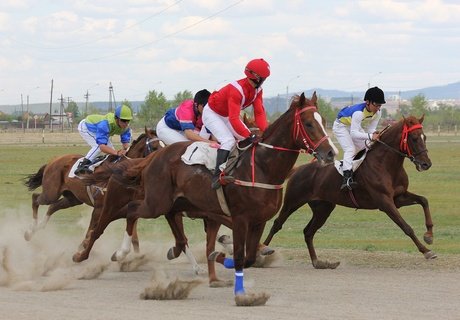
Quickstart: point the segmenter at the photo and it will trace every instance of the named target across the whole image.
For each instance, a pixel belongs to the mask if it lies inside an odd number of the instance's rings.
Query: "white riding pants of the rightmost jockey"
[[[366,140],[353,139],[350,134],[350,126],[337,120],[334,121],[332,131],[343,149],[343,170],[352,170],[353,157],[358,151],[366,148]]]

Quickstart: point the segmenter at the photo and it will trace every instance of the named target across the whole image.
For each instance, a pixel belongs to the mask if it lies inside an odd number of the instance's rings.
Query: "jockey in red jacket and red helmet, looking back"
[[[215,91],[203,109],[203,123],[221,144],[217,150],[217,161],[212,178],[213,189],[220,187],[220,165],[227,161],[230,150],[238,140],[254,142],[252,134],[240,118],[242,109],[252,105],[257,126],[264,131],[268,124],[263,106],[262,84],[270,75],[270,65],[264,59],[249,61],[244,69],[246,78],[231,82]]]

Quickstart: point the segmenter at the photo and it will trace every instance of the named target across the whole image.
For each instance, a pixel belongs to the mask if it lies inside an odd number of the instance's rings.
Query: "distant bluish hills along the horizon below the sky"
[[[354,97],[356,101],[360,101],[361,97],[364,96],[364,91],[341,91],[341,90],[333,90],[333,89],[322,89],[322,88],[312,88],[312,89],[306,89],[303,92],[307,96],[311,96],[313,91],[316,91],[316,93],[321,96],[324,99],[350,99],[350,97]],[[302,92],[302,91],[300,91]],[[292,95],[300,92],[292,92],[289,94],[289,97],[286,97],[286,93],[279,94],[274,97],[265,97],[264,99],[264,104],[265,108],[267,109],[268,113],[273,113],[276,111],[279,112],[284,112],[287,107],[288,99]],[[443,100],[443,99],[455,99],[455,100],[460,100],[460,82],[455,82],[443,86],[434,86],[434,87],[427,87],[427,88],[422,88],[422,89],[417,89],[417,90],[408,90],[408,91],[386,91],[385,95],[386,96],[397,96],[401,95],[401,99],[411,99],[415,97],[418,94],[423,94],[426,99],[429,100]],[[143,101],[131,101],[131,104],[133,106],[134,111],[138,111],[140,108],[140,105],[143,103]],[[103,110],[104,112],[107,110],[109,103],[107,101],[95,101],[91,102],[91,104],[95,107],[97,107],[100,110]],[[84,102],[77,102],[77,105],[80,110],[84,110],[85,108],[85,103]],[[25,106],[24,106],[25,108]],[[34,103],[30,104],[29,108],[32,112],[34,113],[45,113],[49,112],[49,102],[47,103]],[[54,110],[59,109],[59,103],[53,103],[53,113]],[[21,105],[2,105],[0,106],[0,111],[11,114],[15,111],[21,112]],[[26,111],[26,110],[24,110]]]

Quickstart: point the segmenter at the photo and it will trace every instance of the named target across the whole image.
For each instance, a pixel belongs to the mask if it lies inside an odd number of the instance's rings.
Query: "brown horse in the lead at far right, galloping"
[[[318,260],[313,237],[328,219],[336,205],[357,209],[379,209],[385,212],[409,236],[426,259],[436,258],[417,238],[414,230],[404,221],[398,208],[419,204],[425,214],[426,243],[433,242],[433,222],[425,197],[407,190],[409,178],[404,170],[404,159],[409,158],[418,171],[431,167],[422,129],[423,116],[404,118],[382,132],[355,173],[358,186],[353,191],[340,190],[342,177],[334,165],[310,163],[299,167],[288,181],[286,194],[278,217],[275,219],[265,244],[281,230],[287,218],[308,203],[313,216],[303,230],[312,264],[317,269],[334,269],[340,262]]]

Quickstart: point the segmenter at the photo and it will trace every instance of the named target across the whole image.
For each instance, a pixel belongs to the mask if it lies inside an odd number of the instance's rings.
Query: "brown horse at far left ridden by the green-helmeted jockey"
[[[101,166],[95,169],[95,172],[104,170],[112,165],[112,161],[122,161],[128,158],[140,158],[149,155],[151,152],[162,147],[161,142],[156,137],[155,130],[144,129],[136,140],[134,140],[129,147],[126,156],[119,158],[116,156],[109,156],[109,158],[102,163]],[[83,203],[94,207],[94,203],[98,195],[102,195],[100,187],[103,187],[104,182],[100,183],[96,190],[92,190],[87,186],[80,177],[69,177],[69,172],[75,162],[83,157],[79,154],[68,154],[55,158],[44,164],[36,173],[30,174],[25,177],[24,184],[28,187],[29,191],[33,191],[38,187],[42,187],[41,193],[32,194],[32,216],[33,223],[26,230],[24,238],[29,241],[34,233],[40,229],[45,228],[51,215],[58,210],[67,209]],[[38,221],[38,208],[40,205],[49,205],[46,215],[39,222]],[[93,228],[98,219],[98,211],[93,211],[91,215],[91,222],[86,233]],[[137,232],[133,237],[133,244],[138,250]]]

